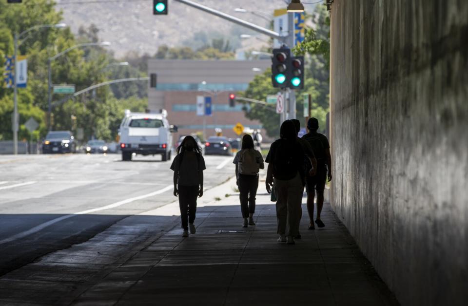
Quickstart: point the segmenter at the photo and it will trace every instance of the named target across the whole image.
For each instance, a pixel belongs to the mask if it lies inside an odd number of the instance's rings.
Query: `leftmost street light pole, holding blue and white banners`
[[[57,23],[57,24],[39,24],[36,26],[33,26],[20,34],[15,33],[15,38],[14,38],[14,48],[15,48],[15,53],[14,53],[14,63],[15,63],[15,68],[13,69],[13,101],[14,101],[14,109],[13,109],[13,153],[16,155],[18,154],[18,128],[19,128],[19,122],[18,122],[18,82],[17,82],[17,74],[16,74],[16,69],[17,69],[17,57],[18,57],[18,48],[22,43],[26,40],[26,38],[29,37],[26,36],[21,42],[19,40],[24,37],[26,34],[34,31],[34,30],[39,30],[42,28],[64,28],[67,25],[65,23]]]

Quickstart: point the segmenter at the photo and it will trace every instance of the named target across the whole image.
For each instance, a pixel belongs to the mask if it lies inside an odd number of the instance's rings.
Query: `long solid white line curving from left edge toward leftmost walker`
[[[20,232],[20,233],[14,235],[14,236],[11,236],[9,238],[5,238],[3,240],[0,240],[0,245],[11,242],[11,241],[14,241],[14,240],[17,240],[17,239],[20,239],[20,238],[23,238],[23,237],[31,235],[31,234],[34,234],[34,233],[38,232],[39,230],[45,229],[46,227],[51,226],[51,225],[53,225],[53,224],[55,224],[57,222],[60,222],[60,221],[63,221],[63,220],[66,220],[66,219],[69,219],[69,218],[72,218],[72,217],[75,217],[75,216],[78,216],[78,215],[81,215],[81,214],[87,214],[87,213],[101,211],[101,210],[109,210],[109,209],[112,209],[112,208],[122,206],[124,204],[128,204],[128,203],[131,203],[131,202],[135,202],[135,201],[138,201],[138,200],[146,199],[146,198],[149,198],[149,197],[164,193],[164,192],[169,191],[169,190],[171,190],[173,188],[174,188],[174,185],[169,185],[169,186],[167,186],[167,187],[165,187],[165,188],[163,188],[161,190],[151,192],[151,193],[148,193],[148,194],[144,194],[144,195],[140,195],[140,196],[137,196],[137,197],[134,197],[134,198],[126,199],[126,200],[123,200],[123,201],[119,201],[119,202],[114,203],[114,204],[94,208],[94,209],[91,209],[91,210],[78,211],[78,212],[75,212],[74,214],[67,214],[67,215],[61,216],[59,218],[55,218],[55,219],[52,219],[52,220],[47,221],[45,223],[39,224],[38,226],[35,226],[32,229],[25,230],[23,232]]]

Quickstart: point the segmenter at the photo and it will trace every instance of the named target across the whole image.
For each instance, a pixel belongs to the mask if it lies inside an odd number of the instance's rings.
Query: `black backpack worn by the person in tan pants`
[[[274,157],[274,175],[279,180],[293,179],[301,170],[303,160],[298,156],[303,156],[302,148],[297,141],[280,139],[278,142]],[[298,150],[300,152],[297,152]]]

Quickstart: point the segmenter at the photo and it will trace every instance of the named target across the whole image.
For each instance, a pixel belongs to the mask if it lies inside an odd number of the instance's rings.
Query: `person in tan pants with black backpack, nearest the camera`
[[[304,151],[297,141],[294,124],[286,120],[281,124],[280,139],[273,142],[268,152],[266,188],[277,192],[276,218],[278,242],[294,244],[298,234],[299,214],[304,192]]]

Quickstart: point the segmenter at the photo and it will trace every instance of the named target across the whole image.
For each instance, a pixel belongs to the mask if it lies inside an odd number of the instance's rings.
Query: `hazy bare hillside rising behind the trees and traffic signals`
[[[254,34],[243,27],[211,16],[176,1],[169,2],[168,16],[154,16],[151,0],[104,1],[104,0],[59,0],[57,7],[63,10],[64,22],[77,33],[80,26],[94,23],[99,29],[99,38],[112,42],[111,50],[117,57],[128,51],[154,54],[161,44],[169,46],[201,44],[213,37],[230,37],[234,46],[239,46],[240,34]],[[68,2],[68,3],[67,3]],[[90,3],[86,3],[90,2]],[[197,0],[198,3],[218,9],[236,17],[267,26],[265,19],[253,14],[236,13],[234,8],[248,10],[261,8],[271,12],[285,6],[283,0]]]

